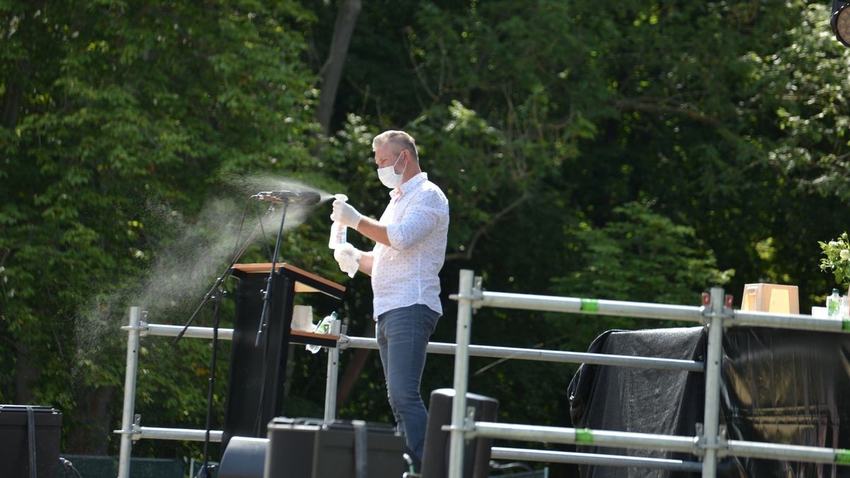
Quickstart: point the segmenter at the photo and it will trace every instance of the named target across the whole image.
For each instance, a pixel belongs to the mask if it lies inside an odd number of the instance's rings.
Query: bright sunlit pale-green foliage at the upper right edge
[[[802,10],[791,28],[793,43],[765,55],[748,55],[751,83],[762,88],[749,108],[774,129],[774,149],[762,161],[789,185],[823,196],[850,197],[850,50],[825,29],[828,5]],[[762,116],[762,115],[759,115]]]

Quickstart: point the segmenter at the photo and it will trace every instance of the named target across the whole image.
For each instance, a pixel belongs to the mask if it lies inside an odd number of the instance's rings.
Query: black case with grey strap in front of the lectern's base
[[[356,425],[356,426],[355,426]],[[405,437],[388,424],[275,418],[269,422],[266,478],[399,478],[405,470]]]

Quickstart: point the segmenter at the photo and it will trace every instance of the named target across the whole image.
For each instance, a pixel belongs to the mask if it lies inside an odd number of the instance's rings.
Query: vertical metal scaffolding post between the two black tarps
[[[720,361],[723,350],[723,317],[726,315],[723,288],[711,287],[709,305],[711,317],[708,329],[708,356],[706,356],[706,411],[703,416],[702,476],[717,476],[717,435],[720,415]]]

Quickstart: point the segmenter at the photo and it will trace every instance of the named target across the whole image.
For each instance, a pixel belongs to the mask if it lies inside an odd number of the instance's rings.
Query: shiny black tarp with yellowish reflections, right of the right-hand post
[[[850,336],[723,331],[723,422],[732,440],[850,447]],[[739,458],[740,476],[850,476],[850,467]]]

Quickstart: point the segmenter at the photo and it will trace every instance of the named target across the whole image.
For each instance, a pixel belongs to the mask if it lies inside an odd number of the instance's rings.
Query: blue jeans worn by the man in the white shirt
[[[375,337],[381,352],[383,376],[387,379],[389,406],[399,431],[405,434],[416,469],[425,446],[428,411],[419,384],[425,368],[425,348],[437,326],[439,314],[427,305],[413,304],[377,316]]]

